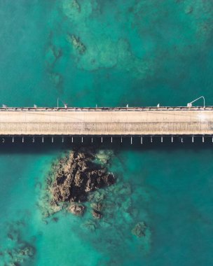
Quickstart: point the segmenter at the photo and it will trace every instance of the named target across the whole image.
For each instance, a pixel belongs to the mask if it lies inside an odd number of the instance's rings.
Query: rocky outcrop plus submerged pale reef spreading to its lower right
[[[76,223],[71,230],[79,237],[83,234],[85,241],[92,242],[100,252],[102,247],[114,247],[115,261],[118,243],[124,237],[137,242],[144,254],[151,248],[149,217],[145,210],[137,208],[142,190],[134,188],[133,193],[130,183],[123,180],[123,173],[116,172],[123,164],[116,160],[110,150],[75,148],[65,153],[53,163],[37,204],[46,225],[74,214]],[[112,161],[116,168],[111,167]],[[92,237],[93,232],[98,241]]]

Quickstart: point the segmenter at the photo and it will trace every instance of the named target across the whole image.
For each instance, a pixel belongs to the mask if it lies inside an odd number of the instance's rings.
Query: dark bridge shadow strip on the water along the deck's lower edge
[[[132,143],[131,143],[132,142]],[[63,151],[72,148],[94,147],[102,149],[112,149],[114,151],[175,151],[175,150],[203,150],[212,149],[212,137],[196,136],[192,137],[74,137],[73,142],[71,137],[15,137],[14,142],[12,137],[0,138],[0,154],[14,153],[48,153],[50,151]]]

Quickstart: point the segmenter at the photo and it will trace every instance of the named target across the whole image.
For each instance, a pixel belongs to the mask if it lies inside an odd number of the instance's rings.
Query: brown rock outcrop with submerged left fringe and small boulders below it
[[[82,216],[86,209],[82,202],[88,202],[90,193],[116,183],[114,174],[107,171],[106,165],[99,163],[106,161],[101,153],[95,154],[92,149],[83,148],[57,160],[48,175],[46,190],[39,202],[43,217],[62,209]],[[100,211],[100,206],[93,206],[95,218],[102,217]]]

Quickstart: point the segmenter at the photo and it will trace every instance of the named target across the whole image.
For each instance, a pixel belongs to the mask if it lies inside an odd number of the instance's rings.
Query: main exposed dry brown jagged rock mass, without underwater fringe
[[[55,202],[85,202],[89,192],[115,183],[114,174],[92,162],[94,158],[91,151],[78,150],[59,162],[51,187]]]

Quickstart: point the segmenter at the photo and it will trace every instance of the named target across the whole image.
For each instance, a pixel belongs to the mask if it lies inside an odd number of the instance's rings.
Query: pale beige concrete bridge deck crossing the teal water
[[[0,108],[1,136],[213,134],[213,107]]]

